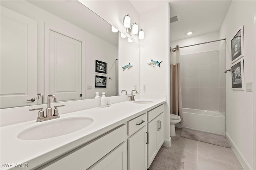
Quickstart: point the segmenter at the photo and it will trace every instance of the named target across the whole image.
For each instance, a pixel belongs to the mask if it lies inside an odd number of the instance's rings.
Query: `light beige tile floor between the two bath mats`
[[[170,149],[182,153],[184,170],[244,170],[231,148],[180,137],[180,128],[172,137]]]

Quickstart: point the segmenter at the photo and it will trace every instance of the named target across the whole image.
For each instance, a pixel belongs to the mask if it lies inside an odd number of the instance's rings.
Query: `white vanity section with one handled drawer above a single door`
[[[128,169],[147,169],[147,114],[128,121]],[[135,132],[135,133],[134,133]]]

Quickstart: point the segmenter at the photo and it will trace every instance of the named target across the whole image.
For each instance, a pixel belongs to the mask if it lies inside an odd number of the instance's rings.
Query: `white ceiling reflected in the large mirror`
[[[28,0],[31,4],[118,46],[118,33],[111,25],[76,0]]]

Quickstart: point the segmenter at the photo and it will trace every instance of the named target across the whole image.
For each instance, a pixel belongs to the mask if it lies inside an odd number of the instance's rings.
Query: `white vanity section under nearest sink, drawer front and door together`
[[[120,167],[127,169],[126,132],[127,126],[120,125],[57,158],[56,162],[50,162],[43,168],[47,170],[85,170],[90,167],[95,169],[120,169]]]

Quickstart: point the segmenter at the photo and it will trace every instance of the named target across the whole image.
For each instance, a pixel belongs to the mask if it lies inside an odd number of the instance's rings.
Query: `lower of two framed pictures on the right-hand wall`
[[[239,59],[231,65],[233,90],[244,90],[244,59]]]

